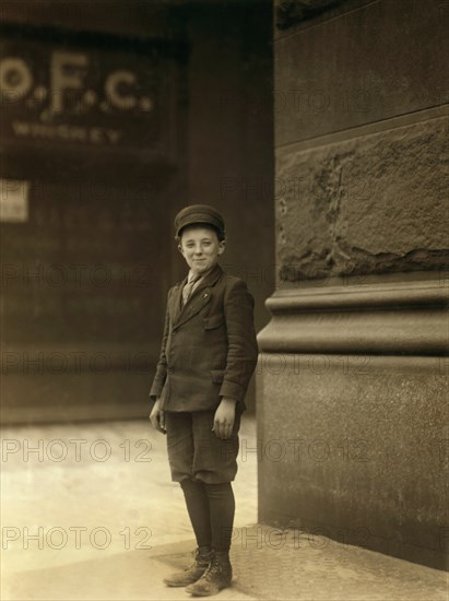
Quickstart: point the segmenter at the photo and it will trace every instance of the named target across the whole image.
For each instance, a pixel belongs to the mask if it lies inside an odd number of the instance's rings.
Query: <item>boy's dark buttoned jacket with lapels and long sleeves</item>
[[[258,346],[252,295],[216,264],[181,308],[187,278],[168,292],[161,355],[150,391],[166,411],[214,410],[221,397],[245,409]]]

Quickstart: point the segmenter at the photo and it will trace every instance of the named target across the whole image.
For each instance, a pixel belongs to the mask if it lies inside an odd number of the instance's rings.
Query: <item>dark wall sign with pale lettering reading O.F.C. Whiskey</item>
[[[3,144],[173,151],[167,58],[16,38],[3,38],[0,49]]]

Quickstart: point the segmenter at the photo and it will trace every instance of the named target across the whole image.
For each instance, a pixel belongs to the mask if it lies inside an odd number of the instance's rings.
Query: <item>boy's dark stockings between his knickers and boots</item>
[[[189,479],[181,487],[198,546],[229,551],[235,514],[231,482],[204,484]]]

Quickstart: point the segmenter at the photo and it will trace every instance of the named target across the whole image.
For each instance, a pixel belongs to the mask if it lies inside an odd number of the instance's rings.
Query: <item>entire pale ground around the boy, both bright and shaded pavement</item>
[[[241,436],[256,447],[253,420]],[[165,439],[147,423],[11,427],[4,448],[1,599],[191,599],[162,584],[194,542]],[[448,601],[446,573],[256,525],[257,460],[240,459],[234,586],[216,599]]]

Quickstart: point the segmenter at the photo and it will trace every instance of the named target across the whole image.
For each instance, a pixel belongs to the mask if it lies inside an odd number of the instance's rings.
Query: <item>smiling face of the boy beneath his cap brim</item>
[[[225,241],[218,241],[213,228],[188,225],[181,232],[178,248],[193,274],[199,275],[216,263],[218,256],[224,252]]]

